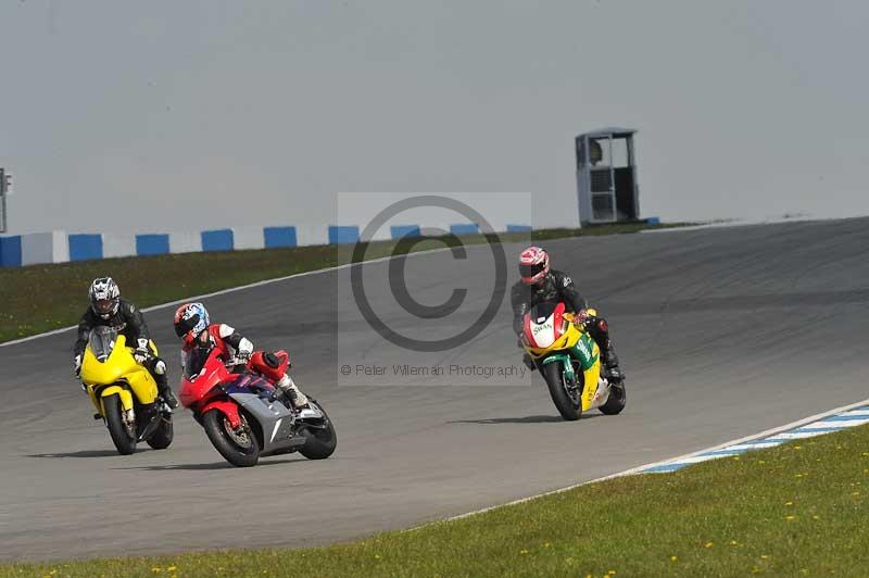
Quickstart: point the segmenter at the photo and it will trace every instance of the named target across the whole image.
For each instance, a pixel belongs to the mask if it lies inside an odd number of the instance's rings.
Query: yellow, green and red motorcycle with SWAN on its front
[[[596,315],[594,310],[588,310]],[[625,409],[625,381],[610,384],[601,374],[601,350],[564,303],[534,305],[522,319],[521,343],[534,361],[555,407],[568,420],[599,409],[615,415]]]

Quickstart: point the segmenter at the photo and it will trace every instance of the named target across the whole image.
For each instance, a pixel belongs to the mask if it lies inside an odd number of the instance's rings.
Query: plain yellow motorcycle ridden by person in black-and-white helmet
[[[156,381],[133,356],[123,335],[111,327],[90,331],[81,360],[81,385],[97,409],[95,419],[109,428],[117,452],[136,451],[144,441],[155,450],[169,447],[172,410],[158,395]],[[153,342],[151,349],[156,354]]]

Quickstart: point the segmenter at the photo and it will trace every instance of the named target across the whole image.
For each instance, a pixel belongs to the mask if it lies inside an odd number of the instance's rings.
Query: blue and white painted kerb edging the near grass
[[[732,457],[752,450],[765,450],[767,448],[774,448],[782,443],[804,438],[811,438],[830,434],[833,431],[842,431],[855,426],[869,424],[869,405],[860,405],[845,410],[832,415],[819,417],[814,422],[803,423],[791,429],[776,431],[767,436],[759,436],[754,439],[739,441],[729,445],[715,448],[711,450],[704,450],[697,453],[689,454],[682,457],[676,457],[659,464],[650,465],[647,467],[638,469],[635,474],[662,474],[667,472],[676,472],[691,464],[698,464],[701,462],[708,462],[718,457]],[[786,428],[788,426],[785,426]]]

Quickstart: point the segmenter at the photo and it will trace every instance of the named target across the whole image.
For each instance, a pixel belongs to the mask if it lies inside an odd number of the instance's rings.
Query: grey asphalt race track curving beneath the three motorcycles
[[[207,299],[257,347],[285,347],[331,414],[338,451],[228,466],[189,413],[175,443],[115,453],[71,375],[73,332],[0,348],[0,560],[301,546],[486,507],[594,479],[869,398],[869,219],[566,239],[542,243],[610,322],[628,407],[557,418],[542,379],[377,385],[345,360],[392,364],[354,309],[348,269]],[[507,246],[511,280],[519,246]],[[486,247],[406,260],[429,305],[467,287],[484,309]],[[387,279],[388,263],[364,267]],[[123,290],[123,279],[119,279]],[[81,288],[83,307],[86,288]],[[420,323],[383,291],[396,328]],[[390,310],[390,307],[392,307]],[[177,384],[174,307],[147,314]],[[424,322],[452,335],[462,311]],[[516,365],[508,299],[484,334],[430,364]],[[340,328],[340,338],[337,331]],[[428,335],[428,334],[427,334]],[[418,360],[419,354],[408,353]],[[350,381],[355,381],[351,376]],[[471,382],[473,381],[473,382]]]

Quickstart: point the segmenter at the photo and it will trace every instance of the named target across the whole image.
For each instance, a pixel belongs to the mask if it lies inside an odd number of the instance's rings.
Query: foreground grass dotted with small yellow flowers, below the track
[[[865,577],[867,449],[862,426],[349,544],[7,565],[0,575]]]

